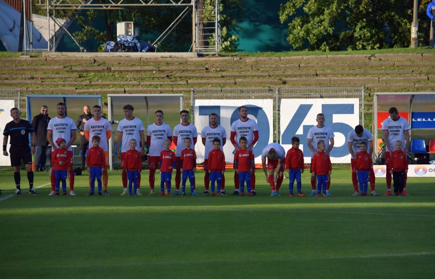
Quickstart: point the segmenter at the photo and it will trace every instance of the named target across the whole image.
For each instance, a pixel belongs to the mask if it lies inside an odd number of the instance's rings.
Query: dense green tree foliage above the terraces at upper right
[[[409,0],[292,0],[279,10],[293,48],[324,51],[409,46],[412,18]]]

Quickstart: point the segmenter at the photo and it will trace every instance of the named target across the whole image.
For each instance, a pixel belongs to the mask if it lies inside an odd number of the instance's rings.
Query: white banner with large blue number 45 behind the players
[[[307,147],[309,129],[316,125],[319,113],[325,115],[325,125],[334,131],[332,163],[350,163],[347,134],[359,124],[359,99],[281,99],[280,131],[281,145],[285,150],[292,148],[292,137],[298,137],[304,152],[305,163],[311,161]]]

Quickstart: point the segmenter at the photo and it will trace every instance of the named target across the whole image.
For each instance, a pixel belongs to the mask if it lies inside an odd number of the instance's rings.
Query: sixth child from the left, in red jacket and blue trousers
[[[225,171],[225,154],[221,150],[221,140],[213,140],[213,149],[208,154],[208,173],[210,173],[211,193],[214,196],[214,182],[218,182],[218,192],[216,196],[226,196],[225,190],[221,192],[222,174]]]

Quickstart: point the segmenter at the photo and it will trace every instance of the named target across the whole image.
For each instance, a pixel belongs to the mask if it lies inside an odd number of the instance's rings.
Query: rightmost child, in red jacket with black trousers
[[[390,159],[390,173],[393,174],[394,195],[401,196],[405,182],[405,173],[408,172],[408,160],[406,159],[406,154],[402,151],[402,141],[396,141],[394,147],[396,151],[393,151]]]

